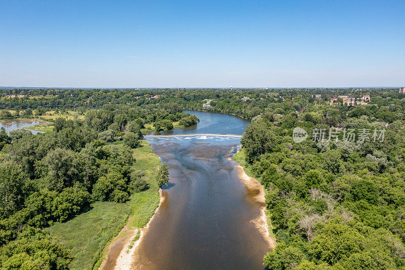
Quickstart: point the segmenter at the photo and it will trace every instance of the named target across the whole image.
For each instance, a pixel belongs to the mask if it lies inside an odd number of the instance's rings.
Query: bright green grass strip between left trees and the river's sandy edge
[[[114,144],[119,147],[122,142]],[[125,204],[95,202],[88,212],[64,223],[56,222],[46,229],[71,250],[73,260],[69,268],[98,268],[106,245],[124,227],[130,215],[132,220],[129,226],[139,228],[152,217],[159,204],[155,177],[160,160],[152,153],[147,141],[142,141],[142,147],[134,149],[134,155],[136,162],[133,169],[145,173],[149,189],[132,195]]]

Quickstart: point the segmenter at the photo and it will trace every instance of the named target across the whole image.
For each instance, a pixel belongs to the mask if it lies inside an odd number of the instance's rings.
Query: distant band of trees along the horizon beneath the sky
[[[405,95],[399,93],[398,89],[2,89],[0,93],[3,96],[0,109],[31,109],[31,113],[37,115],[53,108],[83,110],[110,104],[148,111],[161,105],[175,104],[179,112],[182,109],[208,110],[253,119],[269,107],[279,107],[281,112],[290,108],[294,111],[305,110],[308,104],[331,107],[329,101],[336,95],[353,95],[357,98],[371,96],[368,105],[348,105],[342,100],[335,101],[334,104],[340,107],[338,110],[351,113],[349,117],[368,115],[392,122],[402,118],[405,110]],[[10,95],[24,97],[8,97]],[[315,95],[320,95],[320,98],[315,98]],[[365,111],[364,107],[368,106],[371,107]],[[9,113],[5,117],[13,115]],[[162,123],[160,126],[164,125]]]

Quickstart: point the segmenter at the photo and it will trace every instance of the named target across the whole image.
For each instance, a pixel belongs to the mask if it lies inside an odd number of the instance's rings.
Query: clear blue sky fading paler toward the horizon
[[[404,0],[0,1],[0,86],[405,85]]]

